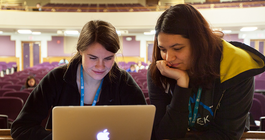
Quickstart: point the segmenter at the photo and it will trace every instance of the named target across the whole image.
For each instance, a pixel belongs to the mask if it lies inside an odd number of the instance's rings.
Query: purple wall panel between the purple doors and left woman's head
[[[63,51],[63,37],[52,37],[52,41],[48,41],[48,56],[68,56]]]

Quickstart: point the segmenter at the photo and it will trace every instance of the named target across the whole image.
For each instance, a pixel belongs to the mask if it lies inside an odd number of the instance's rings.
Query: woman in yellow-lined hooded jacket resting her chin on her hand
[[[152,139],[240,139],[249,130],[254,76],[265,71],[264,56],[222,40],[189,4],[167,9],[155,30],[147,72],[156,106]],[[202,132],[185,138],[188,130]]]

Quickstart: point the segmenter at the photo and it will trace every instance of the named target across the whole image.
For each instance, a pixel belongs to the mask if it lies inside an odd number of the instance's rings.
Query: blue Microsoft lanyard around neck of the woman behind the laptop
[[[102,87],[103,79],[101,80],[101,83],[99,85],[99,88],[96,91],[96,95],[95,95],[95,98],[94,98],[94,101],[93,101],[92,106],[95,106],[96,105],[96,101],[97,101],[98,95],[99,95],[100,90],[101,90],[101,87]],[[84,106],[84,79],[83,79],[83,65],[82,64],[81,64],[81,69],[80,69],[80,82],[81,82],[81,100],[80,100],[80,106]]]

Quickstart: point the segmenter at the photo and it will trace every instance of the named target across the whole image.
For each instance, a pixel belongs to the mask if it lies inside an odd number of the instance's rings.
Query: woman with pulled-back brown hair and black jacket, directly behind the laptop
[[[68,65],[51,70],[32,91],[11,125],[11,137],[51,140],[52,132],[41,126],[51,107],[146,105],[140,87],[115,62],[119,49],[119,36],[112,24],[102,20],[86,23],[77,42],[77,53]],[[46,129],[52,129],[51,115]]]

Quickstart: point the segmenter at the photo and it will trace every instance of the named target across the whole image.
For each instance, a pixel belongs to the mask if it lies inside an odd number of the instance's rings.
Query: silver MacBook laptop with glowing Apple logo
[[[150,140],[155,112],[153,105],[54,107],[53,140]]]

